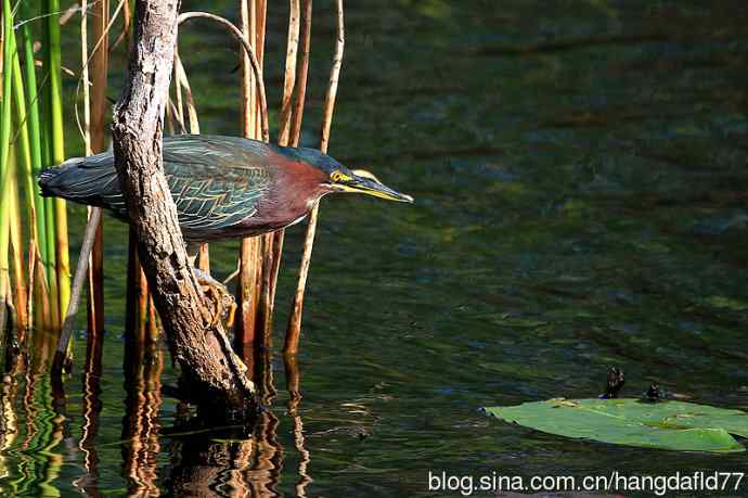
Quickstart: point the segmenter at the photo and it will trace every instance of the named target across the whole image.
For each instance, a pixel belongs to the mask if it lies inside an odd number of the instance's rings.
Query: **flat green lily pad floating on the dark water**
[[[680,451],[745,451],[748,413],[708,405],[639,399],[565,399],[489,407],[501,420],[566,437]]]

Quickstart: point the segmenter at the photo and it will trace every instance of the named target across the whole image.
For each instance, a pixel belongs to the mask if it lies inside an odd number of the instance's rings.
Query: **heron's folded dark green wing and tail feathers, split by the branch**
[[[254,216],[272,182],[267,167],[272,151],[272,145],[237,137],[165,137],[164,170],[184,235],[203,239]],[[51,168],[40,184],[46,195],[106,207],[127,219],[111,152]]]

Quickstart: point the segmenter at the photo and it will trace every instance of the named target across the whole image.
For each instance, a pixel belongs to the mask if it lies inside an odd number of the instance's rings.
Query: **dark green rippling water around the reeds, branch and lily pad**
[[[177,405],[158,405],[153,383],[133,422],[138,397],[128,398],[133,381],[122,373],[125,230],[109,221],[98,434],[81,443],[90,426],[81,335],[64,396],[47,376],[16,376],[3,405],[18,427],[2,442],[3,493],[245,496],[246,486],[252,496],[459,496],[429,493],[429,471],[744,470],[739,454],[576,442],[478,411],[595,396],[612,365],[626,370],[630,396],[656,381],[699,403],[748,409],[748,8],[713,3],[347,2],[330,152],[416,204],[323,202],[297,417],[276,358],[278,396],[259,445],[165,434]],[[185,1],[183,10],[235,17],[232,2],[218,4]],[[273,124],[285,9],[271,5],[269,17]],[[330,67],[332,2],[315,2],[314,14],[309,145]],[[196,23],[181,51],[203,131],[237,133],[233,44]],[[74,90],[75,80],[66,85]],[[72,125],[68,135],[78,153]],[[70,212],[79,234],[83,212]],[[289,230],[281,325],[300,238],[301,228]],[[236,244],[212,251],[217,272],[231,271]],[[168,357],[163,363],[163,383],[173,383]]]

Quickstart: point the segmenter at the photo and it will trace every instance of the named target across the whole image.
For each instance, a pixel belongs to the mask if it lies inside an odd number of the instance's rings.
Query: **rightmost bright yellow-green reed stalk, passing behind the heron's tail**
[[[62,112],[62,55],[60,44],[60,0],[47,0],[49,97],[50,97],[50,158],[52,164],[65,161],[65,142]],[[67,210],[64,200],[54,199],[55,248],[57,257],[57,288],[60,293],[59,316],[70,301],[70,260],[67,243]]]

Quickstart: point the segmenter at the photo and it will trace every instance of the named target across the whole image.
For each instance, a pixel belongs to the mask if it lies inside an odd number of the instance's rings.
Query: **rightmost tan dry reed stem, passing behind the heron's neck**
[[[333,112],[335,110],[335,97],[337,95],[338,79],[340,77],[340,67],[343,66],[343,51],[346,43],[345,25],[343,16],[343,0],[336,0],[337,10],[337,40],[335,41],[335,53],[333,54],[333,67],[330,71],[330,82],[327,85],[327,94],[325,95],[324,110],[322,114],[322,126],[320,132],[320,151],[327,152],[327,143],[330,142],[330,128],[333,123]],[[294,295],[294,304],[292,314],[288,319],[288,330],[286,332],[286,341],[284,352],[286,354],[296,354],[298,352],[299,335],[301,333],[301,314],[304,311],[304,293],[307,288],[307,278],[309,276],[309,266],[311,264],[312,247],[314,245],[314,233],[317,232],[317,219],[319,216],[319,202],[314,204],[309,214],[309,225],[307,226],[307,233],[304,240],[304,253],[301,255],[301,266],[299,268],[298,284]]]

